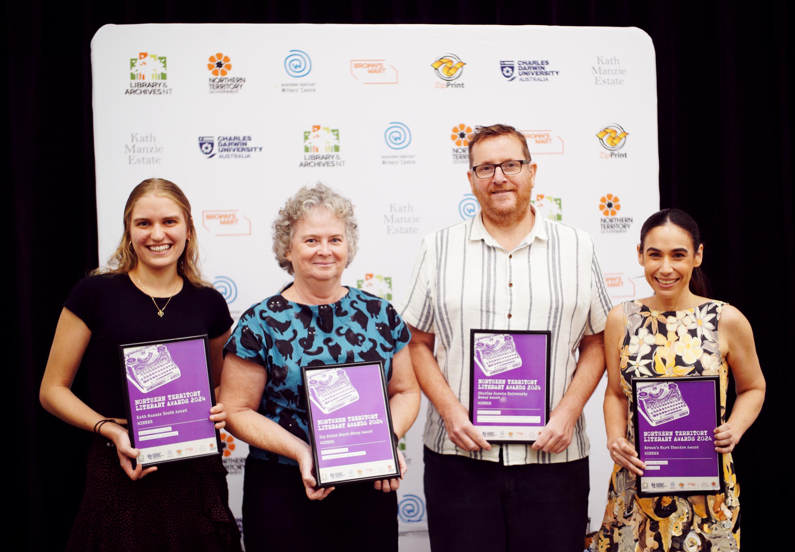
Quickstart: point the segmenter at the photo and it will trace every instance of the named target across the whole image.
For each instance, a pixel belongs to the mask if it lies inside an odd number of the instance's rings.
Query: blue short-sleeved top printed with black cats
[[[242,313],[223,350],[265,367],[268,382],[259,413],[309,442],[301,367],[383,360],[389,381],[392,357],[410,339],[389,301],[349,287],[332,305],[301,305],[281,293],[268,297]],[[296,464],[255,446],[249,451],[263,460]]]

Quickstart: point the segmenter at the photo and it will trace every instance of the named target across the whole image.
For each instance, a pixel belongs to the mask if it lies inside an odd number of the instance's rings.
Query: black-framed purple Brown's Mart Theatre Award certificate
[[[712,495],[724,491],[717,375],[632,378],[638,496]]]

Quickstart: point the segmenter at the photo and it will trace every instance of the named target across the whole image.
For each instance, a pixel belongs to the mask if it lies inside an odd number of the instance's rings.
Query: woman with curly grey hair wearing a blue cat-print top
[[[242,313],[224,348],[227,430],[250,445],[246,550],[314,549],[308,528],[343,517],[354,522],[335,526],[346,546],[397,550],[400,480],[316,488],[308,445],[302,366],[383,361],[396,438],[420,408],[408,327],[388,301],[342,285],[358,240],[350,200],[321,183],[301,188],[273,222],[273,253],[294,280]]]

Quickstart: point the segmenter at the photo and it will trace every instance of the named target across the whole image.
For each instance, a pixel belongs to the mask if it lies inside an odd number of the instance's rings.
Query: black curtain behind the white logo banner
[[[6,150],[13,182],[12,237],[6,243],[13,282],[6,287],[6,312],[16,353],[9,367],[14,374],[10,407],[17,416],[8,422],[13,463],[6,464],[11,466],[6,477],[19,486],[12,492],[24,496],[19,513],[25,518],[21,527],[7,531],[24,538],[32,550],[62,549],[85,480],[91,435],[42,410],[38,386],[64,298],[99,262],[90,41],[100,26],[603,25],[637,26],[653,39],[661,207],[682,208],[700,224],[714,297],[736,305],[754,328],[768,391],[762,414],[735,451],[735,463],[743,549],[760,549],[766,531],[787,530],[778,518],[789,511],[782,492],[789,479],[780,471],[783,443],[789,441],[782,422],[791,361],[784,345],[795,326],[787,278],[795,255],[787,7],[785,2],[735,7],[662,0],[6,2]],[[603,40],[609,45],[609,30]],[[82,386],[79,372],[74,388],[79,393]],[[774,528],[766,530],[764,523],[771,522]]]

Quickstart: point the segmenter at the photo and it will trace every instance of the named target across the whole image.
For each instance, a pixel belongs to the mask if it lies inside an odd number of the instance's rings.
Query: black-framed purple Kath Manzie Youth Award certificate
[[[207,336],[118,346],[130,443],[149,466],[218,454]]]

